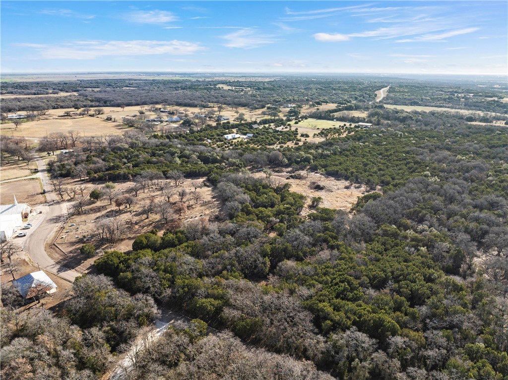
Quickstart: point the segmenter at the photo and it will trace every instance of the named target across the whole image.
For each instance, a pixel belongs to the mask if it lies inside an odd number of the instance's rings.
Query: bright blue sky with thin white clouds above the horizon
[[[508,3],[0,3],[2,72],[506,74]]]

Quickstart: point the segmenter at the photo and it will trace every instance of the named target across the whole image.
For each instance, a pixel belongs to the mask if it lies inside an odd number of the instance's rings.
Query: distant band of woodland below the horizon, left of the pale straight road
[[[225,90],[217,85],[227,84],[235,89]],[[180,107],[208,107],[224,104],[261,109],[267,104],[285,103],[365,103],[373,100],[382,83],[377,80],[277,78],[268,81],[242,80],[81,80],[61,82],[6,82],[2,93],[19,91],[78,92],[62,97],[8,98],[2,102],[2,112],[74,107],[120,107],[164,104]],[[244,88],[241,88],[244,87]]]

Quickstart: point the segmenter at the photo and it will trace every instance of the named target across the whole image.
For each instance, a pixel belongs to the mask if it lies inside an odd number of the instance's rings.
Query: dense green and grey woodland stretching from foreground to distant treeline
[[[246,88],[235,91],[198,80],[108,81],[103,90],[98,81],[89,102],[113,105],[129,86],[149,103],[170,104],[171,88],[172,104],[178,93],[193,105],[346,105],[372,101],[380,84],[352,81],[346,90],[346,82],[327,81],[236,81]],[[91,96],[84,86],[93,82],[84,82],[51,87],[78,91],[65,97],[73,102]],[[33,88],[15,83],[3,91]],[[439,102],[443,88],[434,90],[430,102]],[[162,93],[167,98],[155,98]],[[461,108],[502,111],[491,102]],[[76,280],[59,316],[2,313],[2,374],[100,376],[161,308],[193,322],[140,352],[131,378],[508,378],[508,130],[383,106],[368,117],[376,126],[323,130],[320,143],[301,141],[298,125],[254,130],[253,121],[90,138],[59,154],[49,165],[55,178],[142,186],[206,177],[220,212],[142,234],[132,250],[105,252],[96,261],[100,275]],[[233,129],[256,137],[222,142]],[[5,137],[2,144],[18,146]],[[251,174],[257,170],[266,178]],[[319,172],[370,191],[351,210],[321,207],[316,198],[302,215],[305,196],[272,180],[277,170]],[[3,301],[14,306],[15,297],[3,294]],[[219,332],[207,335],[208,326]]]

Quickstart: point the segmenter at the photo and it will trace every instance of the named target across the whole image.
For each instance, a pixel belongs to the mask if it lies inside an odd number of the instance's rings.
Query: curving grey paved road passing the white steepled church
[[[37,165],[39,173],[35,177],[41,179],[43,188],[47,191],[47,202],[37,207],[38,210],[42,211],[42,214],[34,217],[34,227],[27,231],[26,237],[23,238],[22,248],[27,252],[28,257],[39,264],[42,269],[72,282],[76,277],[81,276],[81,273],[55,263],[44,249],[46,240],[50,239],[58,228],[61,228],[66,213],[63,210],[64,204],[59,203],[56,195],[50,191],[51,184],[49,183],[46,164],[42,159],[38,159]]]

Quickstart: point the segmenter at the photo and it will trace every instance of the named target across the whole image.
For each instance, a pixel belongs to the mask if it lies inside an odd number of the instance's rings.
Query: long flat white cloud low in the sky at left
[[[94,59],[103,56],[186,55],[204,48],[187,41],[74,41],[59,45],[18,43],[16,46],[36,49],[45,59]]]

